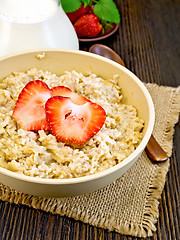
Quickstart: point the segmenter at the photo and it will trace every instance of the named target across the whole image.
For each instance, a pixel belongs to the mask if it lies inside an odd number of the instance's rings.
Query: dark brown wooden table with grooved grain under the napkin
[[[100,43],[122,56],[142,81],[180,85],[180,0],[117,0],[119,30]],[[81,44],[88,49],[91,44]],[[157,232],[147,238],[180,239],[180,125],[176,125],[171,167],[162,193]],[[74,219],[0,201],[0,239],[139,239],[99,229]]]

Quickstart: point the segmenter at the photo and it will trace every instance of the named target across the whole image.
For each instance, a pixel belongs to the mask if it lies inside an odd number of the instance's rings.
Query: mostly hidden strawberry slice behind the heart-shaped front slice
[[[85,102],[90,101],[87,98],[72,92],[70,88],[65,86],[58,86],[58,87],[52,88],[51,96],[52,97],[54,96],[70,97],[71,101],[78,105],[81,105],[81,104],[84,104]]]

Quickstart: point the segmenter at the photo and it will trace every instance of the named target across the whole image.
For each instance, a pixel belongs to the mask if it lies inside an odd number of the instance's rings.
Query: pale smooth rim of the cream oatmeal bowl
[[[138,157],[142,151],[145,149],[150,136],[152,134],[153,128],[154,128],[154,122],[155,122],[155,109],[154,109],[154,104],[151,98],[151,95],[149,93],[149,91],[147,90],[147,88],[145,87],[144,83],[134,74],[132,73],[129,69],[125,68],[124,66],[114,62],[113,60],[107,59],[105,57],[96,55],[94,53],[90,53],[90,52],[85,52],[83,50],[74,50],[74,49],[35,49],[35,50],[27,50],[27,51],[22,51],[22,52],[18,52],[15,54],[9,54],[7,56],[1,57],[0,58],[0,62],[3,60],[6,60],[8,58],[12,58],[12,57],[18,57],[21,55],[26,55],[26,54],[41,54],[41,53],[47,53],[47,52],[60,52],[60,53],[72,53],[72,54],[80,54],[80,55],[86,55],[86,56],[90,56],[92,58],[96,58],[96,59],[100,59],[101,61],[105,61],[111,65],[114,65],[115,67],[119,68],[120,70],[122,70],[123,72],[125,72],[126,74],[128,74],[131,78],[134,79],[134,81],[137,83],[137,85],[143,90],[144,95],[147,99],[147,103],[149,106],[149,123],[147,126],[147,131],[142,139],[142,141],[140,142],[140,144],[138,145],[138,147],[127,157],[125,158],[122,162],[118,163],[117,165],[110,167],[104,171],[92,174],[92,175],[88,175],[88,176],[83,176],[83,177],[77,177],[77,178],[68,178],[68,179],[49,179],[49,178],[40,178],[40,177],[31,177],[31,176],[26,176],[23,174],[19,174],[13,171],[10,171],[8,169],[5,169],[3,167],[0,167],[0,174],[2,175],[6,175],[7,177],[11,177],[17,180],[21,180],[21,181],[25,181],[25,182],[31,182],[31,183],[35,183],[35,184],[46,184],[46,185],[68,185],[68,184],[77,184],[77,183],[82,183],[82,182],[89,182],[92,180],[97,180],[99,178],[105,177],[107,175],[112,174],[113,172],[116,172],[117,170],[119,170],[120,168],[124,167],[125,165],[128,165],[128,163],[130,163],[131,161],[133,161],[136,157]]]

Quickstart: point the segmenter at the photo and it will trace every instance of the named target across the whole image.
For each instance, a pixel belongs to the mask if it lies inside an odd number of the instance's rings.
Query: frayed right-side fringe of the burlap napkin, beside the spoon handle
[[[148,86],[159,88],[164,88],[163,86],[158,86],[157,84],[147,84]],[[167,87],[170,90],[173,88]],[[172,154],[172,145],[173,145],[173,134],[174,134],[174,125],[178,122],[179,112],[180,112],[180,87],[173,89],[173,99],[171,102],[171,107],[169,108],[169,112],[167,112],[167,122],[162,129],[163,137],[162,142],[165,143],[163,145],[163,149],[168,153],[170,157]],[[161,194],[165,185],[166,174],[168,172],[170,165],[170,160],[168,159],[164,163],[156,164],[156,170],[154,172],[154,176],[152,177],[152,182],[149,186],[149,190],[147,194],[149,195],[148,201],[145,204],[144,209],[144,219],[142,222],[142,226],[140,232],[137,232],[135,236],[147,237],[152,236],[153,231],[156,231],[156,222],[159,217],[159,199],[161,198]]]

